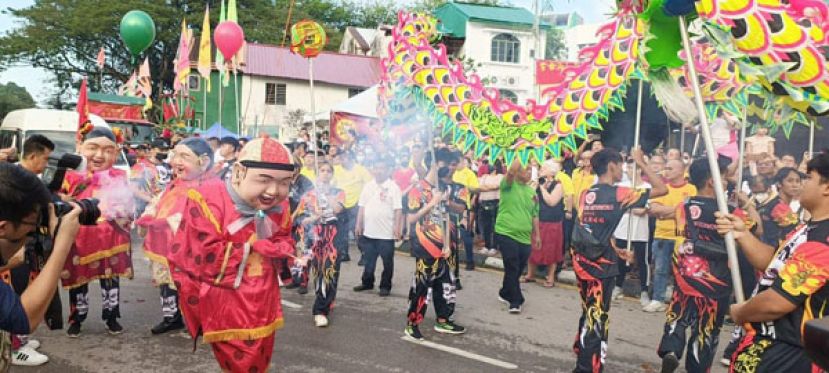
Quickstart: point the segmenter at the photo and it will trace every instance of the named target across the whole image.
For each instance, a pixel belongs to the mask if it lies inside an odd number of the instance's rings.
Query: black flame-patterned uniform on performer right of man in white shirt
[[[425,180],[418,182],[403,197],[404,214],[414,215],[440,193]],[[455,275],[450,259],[443,258],[446,206],[440,203],[424,215],[411,230],[412,255],[415,256],[415,274],[409,290],[408,325],[419,325],[426,315],[429,291],[435,304],[438,319],[448,320],[455,309]],[[450,229],[455,228],[451,226]],[[450,240],[451,242],[451,240]]]

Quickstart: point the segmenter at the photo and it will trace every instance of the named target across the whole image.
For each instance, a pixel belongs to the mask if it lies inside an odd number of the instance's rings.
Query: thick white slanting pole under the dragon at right
[[[693,49],[691,49],[691,41],[688,37],[688,26],[685,24],[685,16],[679,16],[679,28],[682,36],[682,45],[685,48],[685,53],[688,56],[693,56]],[[699,87],[699,78],[697,77],[697,68],[693,61],[688,63],[688,72],[690,72],[691,88],[694,89],[694,102],[699,113],[700,132],[702,132],[702,140],[705,144],[706,157],[708,158],[708,166],[711,168],[711,179],[714,181],[714,193],[717,195],[717,208],[721,214],[728,214],[728,204],[725,196],[725,190],[722,184],[722,175],[720,174],[720,167],[717,162],[717,152],[714,149],[714,142],[711,139],[711,128],[708,127],[708,117],[705,115],[705,105],[702,102],[702,91]],[[743,281],[740,277],[740,263],[737,261],[737,242],[734,240],[734,234],[729,232],[725,235],[725,248],[728,252],[728,264],[731,270],[731,282],[734,287],[734,298],[737,303],[745,302],[745,294],[743,294]]]

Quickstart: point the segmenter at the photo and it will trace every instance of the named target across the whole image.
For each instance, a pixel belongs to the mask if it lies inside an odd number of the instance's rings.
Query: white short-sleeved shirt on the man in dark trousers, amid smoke
[[[394,211],[403,209],[403,195],[394,180],[388,179],[381,185],[376,180],[366,184],[357,205],[363,208],[363,236],[394,239]]]

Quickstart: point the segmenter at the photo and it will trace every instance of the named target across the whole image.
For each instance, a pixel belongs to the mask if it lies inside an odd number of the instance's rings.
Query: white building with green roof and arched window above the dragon
[[[434,15],[450,54],[472,59],[477,74],[503,97],[519,103],[535,98],[535,61],[544,59],[547,23],[536,37],[535,17],[524,8],[449,2]]]

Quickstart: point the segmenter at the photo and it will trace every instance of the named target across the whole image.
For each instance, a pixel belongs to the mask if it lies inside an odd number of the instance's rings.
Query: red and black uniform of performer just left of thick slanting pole
[[[717,211],[717,200],[708,197],[691,197],[677,206],[677,228],[684,232],[673,254],[677,288],[657,353],[660,357],[673,353],[682,358],[687,340],[685,369],[689,373],[711,369],[730,304],[731,272],[725,240],[717,233]],[[745,218],[740,210],[734,213]],[[719,250],[703,250],[702,245]],[[688,328],[691,335],[686,339]]]

